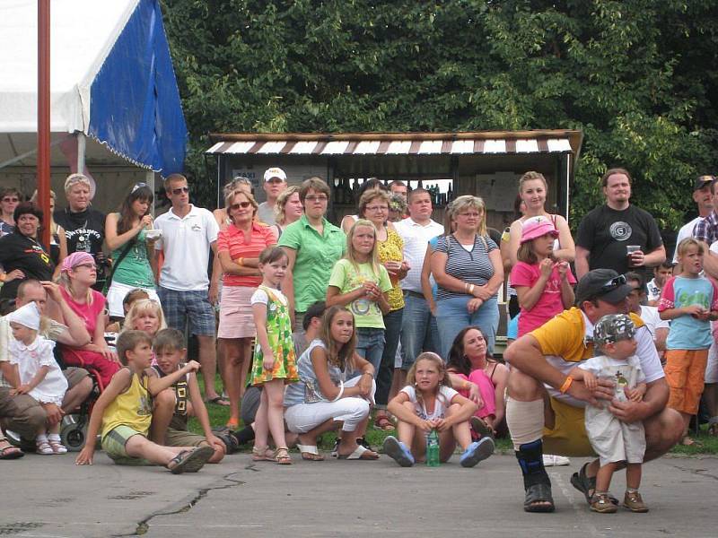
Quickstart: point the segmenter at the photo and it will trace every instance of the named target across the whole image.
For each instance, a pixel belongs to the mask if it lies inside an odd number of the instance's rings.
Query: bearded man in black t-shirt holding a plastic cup
[[[629,204],[631,176],[609,169],[603,176],[606,204],[583,217],[576,235],[576,277],[593,269],[644,272],[666,259],[661,232],[650,213]]]

